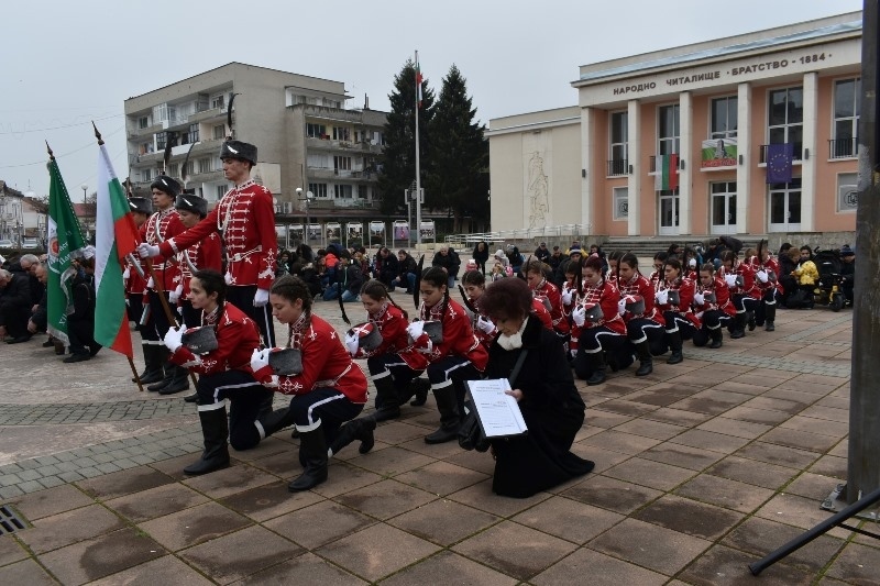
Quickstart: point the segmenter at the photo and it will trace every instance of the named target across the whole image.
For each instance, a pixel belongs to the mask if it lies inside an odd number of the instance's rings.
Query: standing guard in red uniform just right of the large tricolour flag
[[[180,184],[166,175],[160,175],[150,186],[153,190],[153,208],[156,210],[144,224],[144,240],[141,246],[158,246],[168,239],[182,233],[185,228],[180,217],[174,208],[175,199],[180,192]],[[141,257],[148,255],[141,254]],[[150,255],[153,256],[153,255]],[[176,258],[165,257],[153,261],[153,275],[160,280],[165,300],[177,289],[180,283],[180,267]],[[147,296],[150,299],[150,316],[141,332],[145,343],[156,345],[158,358],[164,364],[162,380],[147,386],[147,390],[160,391],[160,395],[173,395],[189,388],[189,378],[186,368],[168,362],[168,353],[162,345],[162,339],[168,332],[170,323],[165,313],[165,308],[160,299],[158,287],[150,276],[147,280]]]

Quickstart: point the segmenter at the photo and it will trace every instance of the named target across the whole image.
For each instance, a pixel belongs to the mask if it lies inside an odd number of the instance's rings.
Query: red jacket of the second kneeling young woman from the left
[[[334,388],[353,403],[366,402],[366,377],[352,361],[332,325],[318,316],[308,316],[307,319],[302,313],[296,323],[290,324],[288,332],[287,347],[299,349],[302,353],[302,372],[276,379],[266,366],[255,374],[257,380],[284,395],[306,395],[317,388]]]

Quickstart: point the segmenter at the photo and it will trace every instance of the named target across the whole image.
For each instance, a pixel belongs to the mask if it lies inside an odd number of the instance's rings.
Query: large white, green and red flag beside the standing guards
[[[122,265],[134,252],[138,229],[107,147],[99,142],[98,211],[95,220],[95,341],[132,357]]]

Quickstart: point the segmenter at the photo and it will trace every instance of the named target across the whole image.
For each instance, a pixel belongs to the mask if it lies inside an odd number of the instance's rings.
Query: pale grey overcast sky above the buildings
[[[482,122],[578,102],[580,65],[860,10],[860,0],[15,1],[3,7],[0,179],[95,190],[89,120],[128,175],[123,100],[230,62],[342,81],[349,107],[388,109],[419,51],[438,92],[454,63]],[[255,141],[258,143],[258,141]]]

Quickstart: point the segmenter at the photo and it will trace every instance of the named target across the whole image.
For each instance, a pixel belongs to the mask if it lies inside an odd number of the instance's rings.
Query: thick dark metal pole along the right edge
[[[853,371],[846,500],[880,488],[880,156],[878,156],[878,0],[865,0],[861,30],[859,202],[856,214],[858,270],[853,306]]]

